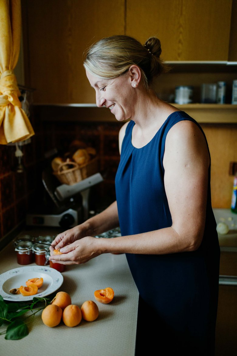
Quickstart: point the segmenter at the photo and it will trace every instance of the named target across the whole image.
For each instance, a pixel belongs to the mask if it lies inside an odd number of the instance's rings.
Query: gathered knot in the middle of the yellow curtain
[[[21,108],[21,95],[13,70],[5,70],[0,76],[0,105],[12,104]]]

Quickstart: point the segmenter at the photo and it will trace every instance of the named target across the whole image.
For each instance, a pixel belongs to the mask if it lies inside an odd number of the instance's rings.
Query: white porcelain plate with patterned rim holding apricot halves
[[[11,294],[9,292],[12,288],[19,288],[26,286],[26,281],[30,278],[43,278],[44,283],[38,289],[38,293],[23,297],[21,294]],[[34,297],[46,297],[55,292],[63,283],[63,276],[54,268],[47,266],[25,266],[20,268],[10,269],[0,275],[0,295],[5,300],[12,300],[14,302],[24,302],[32,300]]]

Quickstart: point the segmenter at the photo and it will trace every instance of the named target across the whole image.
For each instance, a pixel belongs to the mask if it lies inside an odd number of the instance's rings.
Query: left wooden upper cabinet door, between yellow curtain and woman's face
[[[125,0],[23,2],[34,103],[95,103],[83,53],[102,37],[124,34]]]

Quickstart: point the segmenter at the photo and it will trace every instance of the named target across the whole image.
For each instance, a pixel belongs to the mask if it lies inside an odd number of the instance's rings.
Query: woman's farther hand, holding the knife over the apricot
[[[53,255],[54,250],[59,250],[59,248],[62,248],[66,245],[70,245],[72,244],[72,242],[75,242],[76,240],[80,240],[82,239],[82,237],[85,237],[86,234],[83,231],[84,229],[82,228],[82,226],[78,225],[72,227],[72,229],[61,232],[61,234],[55,237],[51,246],[49,247],[50,255]]]

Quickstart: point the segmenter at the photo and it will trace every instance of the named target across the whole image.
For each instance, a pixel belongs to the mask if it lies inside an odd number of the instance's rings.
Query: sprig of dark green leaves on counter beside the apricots
[[[0,295],[0,326],[8,324],[7,329],[0,332],[0,335],[5,334],[6,340],[23,339],[29,334],[27,319],[47,307],[48,304],[50,304],[49,298],[37,297],[34,297],[29,303],[5,303]],[[31,312],[31,314],[22,319],[21,317],[27,312]]]

